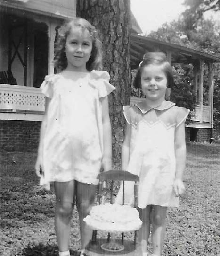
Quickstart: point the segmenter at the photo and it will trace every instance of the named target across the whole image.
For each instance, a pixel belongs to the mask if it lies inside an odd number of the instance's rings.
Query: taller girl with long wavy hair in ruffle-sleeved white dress
[[[55,229],[60,256],[69,256],[74,201],[79,212],[81,255],[92,230],[83,218],[93,205],[100,169],[112,168],[111,126],[107,95],[114,90],[101,65],[101,42],[88,21],[76,18],[58,30],[57,74],[45,77],[41,90],[46,110],[41,125],[37,175],[53,183]]]

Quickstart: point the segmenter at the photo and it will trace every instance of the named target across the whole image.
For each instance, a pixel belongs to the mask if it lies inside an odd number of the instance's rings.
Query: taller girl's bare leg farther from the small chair
[[[55,230],[60,252],[69,250],[70,220],[73,212],[74,181],[54,182],[56,193]]]

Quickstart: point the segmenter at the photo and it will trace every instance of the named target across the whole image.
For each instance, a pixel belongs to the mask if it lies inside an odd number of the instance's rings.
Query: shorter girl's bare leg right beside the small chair
[[[142,227],[138,231],[138,241],[141,244],[142,253],[147,253],[147,243],[150,235],[150,212],[151,205],[147,205],[145,209],[138,208],[140,219],[143,222]]]

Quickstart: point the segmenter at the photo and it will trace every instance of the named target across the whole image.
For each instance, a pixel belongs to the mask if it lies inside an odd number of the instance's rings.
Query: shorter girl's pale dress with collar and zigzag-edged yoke
[[[185,122],[189,110],[163,101],[150,108],[146,101],[124,106],[131,126],[130,156],[127,171],[139,175],[138,207],[147,205],[179,206],[175,197],[175,129]],[[133,183],[125,183],[125,203],[133,203]],[[115,203],[122,203],[122,186]]]

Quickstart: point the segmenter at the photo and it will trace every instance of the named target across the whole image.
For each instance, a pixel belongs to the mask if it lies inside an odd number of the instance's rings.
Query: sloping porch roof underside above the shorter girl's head
[[[220,58],[208,53],[196,51],[179,44],[158,41],[146,36],[131,34],[130,64],[131,69],[138,67],[147,51],[163,51],[172,53],[172,64],[192,63],[200,59],[204,62],[220,62]]]

